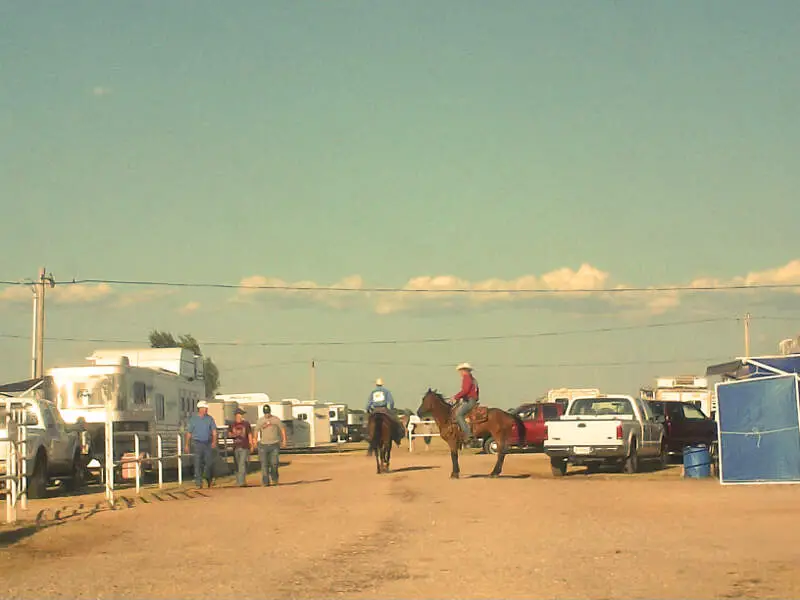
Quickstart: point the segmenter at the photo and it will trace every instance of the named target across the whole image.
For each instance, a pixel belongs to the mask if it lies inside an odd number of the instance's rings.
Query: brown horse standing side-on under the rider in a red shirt
[[[422,397],[422,404],[417,411],[417,415],[432,415],[434,421],[439,426],[439,434],[442,439],[450,446],[450,457],[453,459],[453,472],[450,473],[452,479],[458,479],[461,470],[458,468],[458,451],[464,445],[464,434],[453,414],[453,406],[444,399],[439,392],[428,388]],[[506,458],[506,444],[511,436],[513,427],[517,428],[517,435],[520,443],[525,442],[525,425],[516,415],[507,413],[499,408],[485,408],[476,406],[468,415],[467,422],[472,426],[472,433],[475,437],[491,435],[497,441],[497,462],[489,477],[497,477],[503,470],[503,461]]]

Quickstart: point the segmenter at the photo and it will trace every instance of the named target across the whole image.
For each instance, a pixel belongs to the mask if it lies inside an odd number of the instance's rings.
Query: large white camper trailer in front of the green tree
[[[114,432],[114,461],[134,450],[133,432],[140,433],[140,453],[175,455],[197,402],[205,397],[202,357],[185,348],[100,350],[90,365],[57,367],[48,375],[64,421],[83,420],[91,438],[89,469],[104,465],[106,421]],[[164,466],[176,461],[165,461]],[[154,468],[155,464],[145,464]]]

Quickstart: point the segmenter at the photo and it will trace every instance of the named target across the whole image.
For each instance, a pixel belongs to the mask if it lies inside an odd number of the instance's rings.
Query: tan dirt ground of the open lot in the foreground
[[[493,457],[474,453],[451,481],[437,444],[404,442],[381,476],[364,452],[285,455],[277,488],[224,480],[191,499],[6,530],[2,596],[800,597],[797,486],[723,487],[680,467],[555,479],[535,454],[509,456],[490,480]]]

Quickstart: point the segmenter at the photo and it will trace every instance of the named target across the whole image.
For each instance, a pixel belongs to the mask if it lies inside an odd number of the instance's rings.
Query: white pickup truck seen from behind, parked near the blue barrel
[[[565,475],[568,464],[636,473],[643,460],[667,461],[663,419],[646,402],[625,395],[576,398],[561,419],[547,424],[544,449],[555,476]]]

